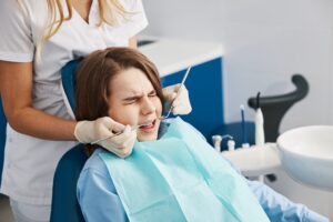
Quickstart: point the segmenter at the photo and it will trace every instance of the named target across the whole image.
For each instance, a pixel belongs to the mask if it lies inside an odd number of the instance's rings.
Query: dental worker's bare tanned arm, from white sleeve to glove
[[[0,61],[0,92],[9,124],[46,140],[74,140],[75,122],[32,108],[32,62]]]

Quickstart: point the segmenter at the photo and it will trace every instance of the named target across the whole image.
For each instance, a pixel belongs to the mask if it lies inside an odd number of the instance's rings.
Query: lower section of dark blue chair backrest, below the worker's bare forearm
[[[83,147],[72,148],[58,163],[53,178],[51,222],[84,222],[77,200],[77,182],[88,159]]]

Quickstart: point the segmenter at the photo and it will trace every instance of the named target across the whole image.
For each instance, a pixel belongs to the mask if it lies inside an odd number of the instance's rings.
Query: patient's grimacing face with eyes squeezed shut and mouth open
[[[131,68],[117,74],[109,87],[109,115],[122,124],[148,123],[149,125],[138,129],[138,140],[157,140],[162,103],[145,74]]]

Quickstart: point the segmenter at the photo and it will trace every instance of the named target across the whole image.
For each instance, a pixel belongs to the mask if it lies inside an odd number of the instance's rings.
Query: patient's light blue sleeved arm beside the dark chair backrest
[[[87,222],[128,221],[103,161],[99,155],[91,157],[89,161],[91,164],[84,167],[78,181],[78,201],[84,220]]]

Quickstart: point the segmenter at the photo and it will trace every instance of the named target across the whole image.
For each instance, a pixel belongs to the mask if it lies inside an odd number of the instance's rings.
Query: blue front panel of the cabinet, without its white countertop
[[[222,57],[192,67],[185,85],[192,112],[182,119],[194,125],[211,141],[212,132],[224,123]],[[180,83],[185,70],[162,77],[163,87]]]

